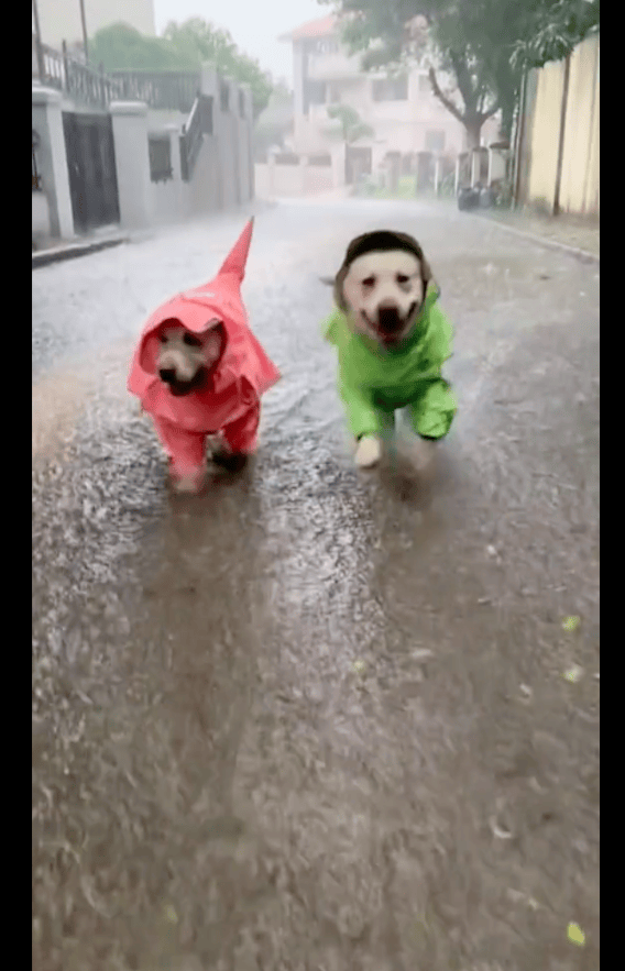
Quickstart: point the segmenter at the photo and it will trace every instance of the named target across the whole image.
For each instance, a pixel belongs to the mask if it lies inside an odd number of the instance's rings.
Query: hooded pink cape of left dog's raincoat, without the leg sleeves
[[[279,379],[279,372],[251,332],[241,297],[241,284],[252,240],[253,219],[209,283],[176,294],[162,304],[145,323],[136,346],[128,389],[140,398],[144,409],[180,426],[198,428],[201,412],[211,407],[211,398],[223,395],[232,386],[249,400],[260,397]],[[177,321],[193,334],[201,336],[219,320],[224,331],[221,357],[212,369],[206,387],[189,395],[174,397],[157,373],[160,331],[166,321]],[[210,416],[205,424],[210,426]]]

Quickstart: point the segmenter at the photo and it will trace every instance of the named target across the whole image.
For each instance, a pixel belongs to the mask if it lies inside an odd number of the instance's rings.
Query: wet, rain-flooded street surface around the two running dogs
[[[284,378],[253,467],[174,498],[130,354],[242,222],[33,274],[33,968],[596,971],[599,267],[417,203],[263,212]],[[383,224],[457,329],[429,497],[352,467],[319,338]]]

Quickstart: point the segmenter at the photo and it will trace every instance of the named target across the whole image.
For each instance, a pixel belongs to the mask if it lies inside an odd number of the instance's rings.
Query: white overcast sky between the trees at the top
[[[189,16],[201,16],[230,31],[244,54],[256,57],[275,78],[286,78],[289,86],[292,46],[278,42],[277,36],[330,12],[330,7],[317,0],[154,0],[157,34],[171,20],[180,23]]]

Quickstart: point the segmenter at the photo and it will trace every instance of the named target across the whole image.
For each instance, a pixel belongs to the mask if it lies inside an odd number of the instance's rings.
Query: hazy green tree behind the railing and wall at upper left
[[[198,70],[211,62],[220,74],[252,91],[254,118],[266,107],[273,90],[271,76],[257,60],[239,51],[228,31],[200,18],[167,24],[162,37],[146,37],[125,23],[98,31],[89,57],[105,70]]]

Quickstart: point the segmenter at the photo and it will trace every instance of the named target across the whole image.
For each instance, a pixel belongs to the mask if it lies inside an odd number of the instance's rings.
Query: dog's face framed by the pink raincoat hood
[[[226,344],[223,324],[219,320],[210,321],[201,335],[191,334],[177,320],[166,321],[158,336],[158,376],[176,397],[188,395],[205,385]]]

